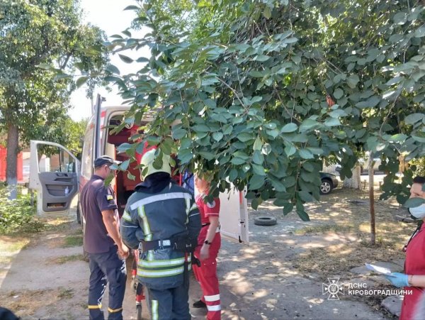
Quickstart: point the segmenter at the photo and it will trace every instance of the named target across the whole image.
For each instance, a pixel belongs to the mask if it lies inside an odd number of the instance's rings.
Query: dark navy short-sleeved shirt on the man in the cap
[[[111,186],[105,187],[103,178],[93,175],[80,194],[81,210],[86,219],[84,250],[88,253],[106,253],[115,245],[103,224],[102,211],[113,210],[119,223],[115,194]]]

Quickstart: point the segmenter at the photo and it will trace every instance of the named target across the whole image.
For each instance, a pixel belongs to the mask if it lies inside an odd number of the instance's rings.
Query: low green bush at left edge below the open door
[[[8,190],[0,186],[0,233],[33,233],[44,228],[35,216],[36,207],[31,206],[30,194],[23,194],[18,187],[18,196],[8,199]]]

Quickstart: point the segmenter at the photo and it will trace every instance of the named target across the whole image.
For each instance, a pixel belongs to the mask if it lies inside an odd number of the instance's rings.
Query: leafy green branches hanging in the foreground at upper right
[[[141,70],[109,79],[132,104],[130,118],[162,106],[145,138],[159,152],[212,171],[212,194],[229,182],[248,186],[255,209],[276,191],[284,214],[295,207],[308,220],[302,204],[319,199],[322,159],[336,157],[344,178],[356,153],[369,151],[389,172],[383,197],[407,199],[412,170],[393,182],[397,157],[425,150],[420,1],[178,3],[137,1],[128,7],[137,12],[133,24],[151,32],[137,39],[125,31],[111,43],[127,62],[123,51],[151,50],[137,60],[147,62]],[[170,6],[174,22],[164,23]]]

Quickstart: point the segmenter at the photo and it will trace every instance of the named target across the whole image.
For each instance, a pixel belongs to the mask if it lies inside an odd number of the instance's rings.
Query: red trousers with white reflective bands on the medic
[[[200,238],[199,242],[203,243],[203,239]],[[215,233],[214,240],[210,245],[210,257],[201,261],[200,267],[198,267],[198,265],[193,265],[193,272],[195,273],[196,280],[198,280],[203,293],[201,300],[207,305],[208,320],[221,319],[220,289],[218,287],[217,278],[217,254],[220,245],[220,233]],[[198,245],[195,250],[196,258],[199,258],[199,255],[200,245]]]

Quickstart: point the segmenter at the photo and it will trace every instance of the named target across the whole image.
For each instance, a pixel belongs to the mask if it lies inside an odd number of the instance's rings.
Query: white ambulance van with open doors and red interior
[[[118,153],[118,147],[123,143],[131,143],[129,139],[137,133],[137,128],[152,120],[152,115],[148,114],[142,123],[128,123],[119,133],[111,133],[113,126],[124,121],[125,112],[129,109],[130,106],[102,106],[102,98],[98,96],[84,135],[81,162],[60,144],[30,141],[29,188],[37,191],[38,214],[69,211],[72,200],[76,195],[78,197],[79,191],[93,174],[93,162],[99,155],[109,155],[120,161],[129,159],[125,153]],[[128,171],[135,176],[135,180],[128,178],[128,172],[118,171],[112,182],[120,216],[128,197],[141,182],[137,162],[130,162]],[[230,190],[229,193],[220,194],[220,202],[222,236],[248,244],[248,216],[244,193]],[[77,221],[84,226],[79,202]]]

